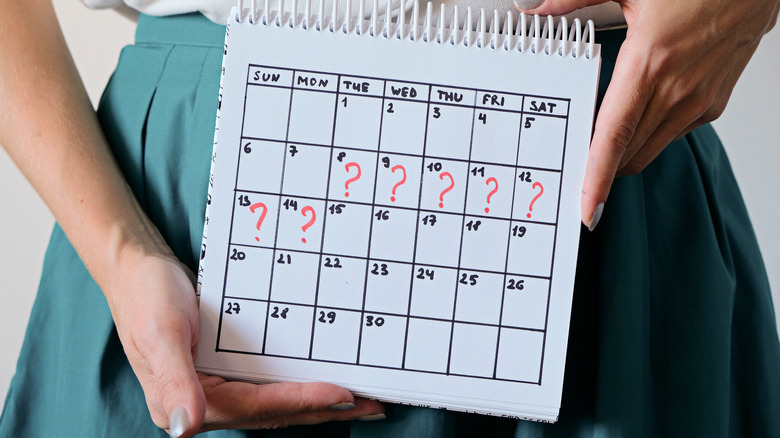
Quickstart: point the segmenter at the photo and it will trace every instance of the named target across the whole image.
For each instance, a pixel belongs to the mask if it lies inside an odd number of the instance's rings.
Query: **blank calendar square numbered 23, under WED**
[[[386,312],[406,315],[409,311],[409,285],[412,265],[380,260],[368,261],[366,312]]]

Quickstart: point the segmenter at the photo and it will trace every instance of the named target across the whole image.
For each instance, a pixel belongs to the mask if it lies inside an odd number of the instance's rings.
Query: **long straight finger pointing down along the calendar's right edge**
[[[618,165],[652,96],[641,70],[642,55],[633,50],[626,40],[596,118],[581,204],[582,222],[590,230],[598,224]]]

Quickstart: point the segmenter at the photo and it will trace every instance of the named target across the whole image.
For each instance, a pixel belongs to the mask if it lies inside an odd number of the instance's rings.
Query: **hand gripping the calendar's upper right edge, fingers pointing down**
[[[546,0],[559,15],[606,0]],[[628,23],[601,104],[582,189],[582,222],[596,226],[615,176],[642,171],[673,140],[715,120],[780,0],[616,0]]]

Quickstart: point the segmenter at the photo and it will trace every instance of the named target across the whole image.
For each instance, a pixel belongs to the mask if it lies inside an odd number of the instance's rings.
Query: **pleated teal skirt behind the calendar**
[[[600,32],[600,96],[625,33]],[[196,269],[224,27],[141,17],[99,108],[125,176]],[[16,293],[16,292],[15,292]],[[27,291],[18,291],[27,293]],[[780,437],[780,343],[758,245],[710,126],[615,181],[580,242],[560,420],[387,406],[378,422],[211,437]],[[149,416],[106,300],[59,227],[0,437],[167,436]]]

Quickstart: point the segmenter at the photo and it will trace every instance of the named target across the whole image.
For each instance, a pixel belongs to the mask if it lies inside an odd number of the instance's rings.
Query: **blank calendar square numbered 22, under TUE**
[[[361,310],[366,260],[323,254],[317,305]]]

